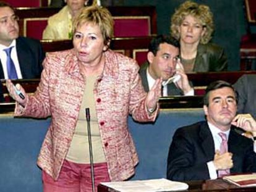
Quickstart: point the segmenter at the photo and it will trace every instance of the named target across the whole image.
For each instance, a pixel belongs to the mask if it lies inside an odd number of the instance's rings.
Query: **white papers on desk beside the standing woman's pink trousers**
[[[105,182],[102,185],[120,192],[156,192],[187,190],[187,183],[172,182],[165,178],[129,182]]]

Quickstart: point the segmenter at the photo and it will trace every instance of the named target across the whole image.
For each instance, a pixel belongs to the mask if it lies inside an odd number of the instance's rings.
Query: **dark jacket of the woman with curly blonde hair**
[[[194,72],[220,72],[227,69],[228,60],[223,48],[213,43],[198,44]]]

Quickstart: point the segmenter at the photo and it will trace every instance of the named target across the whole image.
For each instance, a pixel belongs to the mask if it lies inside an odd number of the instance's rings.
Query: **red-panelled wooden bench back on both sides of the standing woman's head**
[[[144,7],[108,7],[114,19],[114,36],[135,37],[156,35],[156,9]],[[60,9],[53,7],[17,8],[20,35],[41,40],[48,17]]]

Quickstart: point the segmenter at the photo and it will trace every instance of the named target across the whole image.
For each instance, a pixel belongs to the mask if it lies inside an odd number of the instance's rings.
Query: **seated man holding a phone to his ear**
[[[148,62],[140,68],[140,77],[145,91],[149,91],[155,80],[163,78],[163,96],[194,95],[187,75],[179,59],[179,41],[171,36],[157,36],[148,46]],[[172,81],[167,83],[169,78]],[[166,82],[166,83],[165,83]]]

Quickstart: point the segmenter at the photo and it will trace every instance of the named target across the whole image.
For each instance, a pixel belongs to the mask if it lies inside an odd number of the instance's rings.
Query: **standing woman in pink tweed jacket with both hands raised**
[[[90,148],[85,109],[90,109],[95,188],[100,182],[127,180],[139,162],[127,127],[129,114],[139,122],[158,114],[161,79],[145,93],[139,65],[109,49],[113,18],[108,9],[89,6],[74,21],[74,48],[49,52],[33,95],[11,80],[15,115],[49,117],[38,165],[44,192],[91,192]]]

